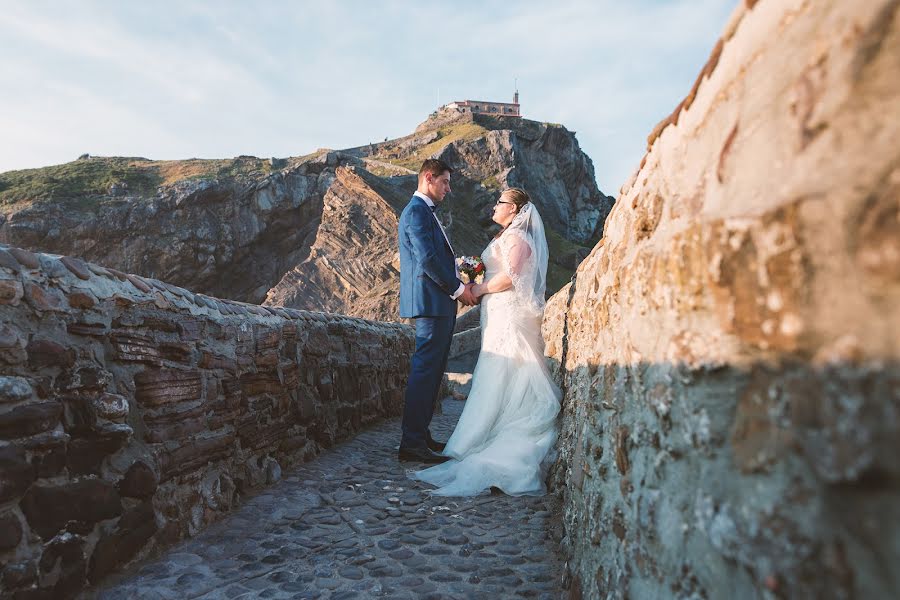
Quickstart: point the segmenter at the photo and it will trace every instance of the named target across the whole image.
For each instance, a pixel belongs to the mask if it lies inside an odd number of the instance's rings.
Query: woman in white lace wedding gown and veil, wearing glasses
[[[528,194],[500,195],[493,219],[503,229],[482,253],[481,353],[472,389],[444,454],[450,460],[413,477],[440,496],[474,496],[491,487],[510,495],[546,492],[556,443],[560,391],[544,361],[541,321],[547,283],[544,224]]]

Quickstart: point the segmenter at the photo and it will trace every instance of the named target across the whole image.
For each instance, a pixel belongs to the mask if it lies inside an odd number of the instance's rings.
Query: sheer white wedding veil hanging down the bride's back
[[[519,210],[501,238],[504,267],[512,279],[516,303],[532,316],[542,316],[549,251],[544,222],[533,203]]]

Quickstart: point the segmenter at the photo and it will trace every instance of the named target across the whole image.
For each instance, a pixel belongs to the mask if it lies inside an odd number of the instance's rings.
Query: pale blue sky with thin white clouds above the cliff
[[[358,146],[518,80],[615,196],[735,1],[0,0],[0,172]]]

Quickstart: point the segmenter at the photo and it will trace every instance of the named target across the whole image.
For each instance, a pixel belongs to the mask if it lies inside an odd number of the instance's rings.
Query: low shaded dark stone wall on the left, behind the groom
[[[70,596],[398,415],[413,344],[0,247],[0,596]]]

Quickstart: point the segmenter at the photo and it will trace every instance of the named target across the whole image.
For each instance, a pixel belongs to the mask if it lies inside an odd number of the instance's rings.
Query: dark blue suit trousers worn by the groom
[[[410,361],[403,399],[401,448],[423,448],[431,436],[428,426],[447,370],[456,315],[416,319],[416,351]]]

